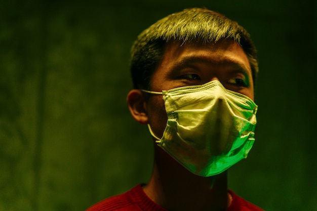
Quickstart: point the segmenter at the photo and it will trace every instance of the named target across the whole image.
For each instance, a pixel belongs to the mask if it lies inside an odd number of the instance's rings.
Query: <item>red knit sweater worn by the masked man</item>
[[[240,196],[232,195],[232,202],[226,211],[263,211],[263,209],[244,200]],[[141,185],[130,191],[112,196],[91,206],[86,211],[168,211],[152,201],[143,191]]]

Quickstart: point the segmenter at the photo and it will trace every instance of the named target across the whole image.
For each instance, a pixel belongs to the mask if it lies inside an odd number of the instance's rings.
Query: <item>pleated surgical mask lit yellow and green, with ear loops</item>
[[[144,90],[143,90],[144,91]],[[191,173],[220,174],[246,158],[254,143],[257,105],[213,80],[163,94],[168,120],[157,144]]]

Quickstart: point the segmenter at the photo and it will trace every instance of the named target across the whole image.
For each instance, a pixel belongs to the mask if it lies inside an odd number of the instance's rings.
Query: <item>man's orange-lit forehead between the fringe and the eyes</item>
[[[227,66],[243,70],[252,76],[249,59],[242,47],[234,41],[218,43],[167,44],[163,58],[157,69],[175,69],[192,64],[207,64],[209,67]]]

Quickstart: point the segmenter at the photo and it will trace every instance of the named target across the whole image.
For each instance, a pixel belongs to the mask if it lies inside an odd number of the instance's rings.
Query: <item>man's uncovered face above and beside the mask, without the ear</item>
[[[234,42],[189,45],[171,44],[151,78],[151,91],[162,92],[178,87],[203,85],[219,80],[234,92],[254,100],[253,79],[247,55]],[[148,123],[153,133],[161,138],[167,114],[162,96],[151,95],[146,103]]]

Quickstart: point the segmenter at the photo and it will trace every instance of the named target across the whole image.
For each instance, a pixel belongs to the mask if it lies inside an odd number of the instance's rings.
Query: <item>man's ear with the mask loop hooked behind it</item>
[[[130,113],[141,124],[148,123],[145,99],[141,90],[131,90],[127,97]]]

